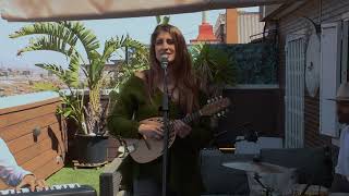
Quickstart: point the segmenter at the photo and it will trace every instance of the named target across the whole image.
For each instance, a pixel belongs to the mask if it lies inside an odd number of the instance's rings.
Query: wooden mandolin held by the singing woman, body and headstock
[[[227,107],[229,107],[230,100],[228,98],[217,97],[207,101],[207,105],[202,107],[194,113],[186,115],[181,119],[184,123],[190,123],[201,117],[222,117],[227,111]],[[151,118],[144,121],[158,121],[163,122],[163,118]],[[144,121],[141,121],[144,122]],[[169,143],[168,148],[171,147],[176,139],[176,133],[172,128],[171,121],[169,122]],[[155,160],[160,157],[164,152],[164,140],[155,139],[155,138],[142,138],[142,139],[127,139],[125,140],[127,148],[124,146],[120,146],[118,151],[120,152],[129,152],[132,159],[139,163],[146,163]]]

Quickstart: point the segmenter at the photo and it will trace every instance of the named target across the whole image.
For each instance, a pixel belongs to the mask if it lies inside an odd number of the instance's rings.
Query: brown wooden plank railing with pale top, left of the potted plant
[[[46,179],[64,166],[67,134],[56,114],[61,105],[53,93],[0,98],[0,137],[17,163]],[[8,186],[0,181],[0,189]]]

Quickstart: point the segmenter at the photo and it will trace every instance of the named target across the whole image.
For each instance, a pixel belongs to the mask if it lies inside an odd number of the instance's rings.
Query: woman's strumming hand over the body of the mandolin
[[[139,133],[143,135],[145,139],[154,138],[161,139],[164,137],[164,124],[154,118],[145,119],[141,121]]]

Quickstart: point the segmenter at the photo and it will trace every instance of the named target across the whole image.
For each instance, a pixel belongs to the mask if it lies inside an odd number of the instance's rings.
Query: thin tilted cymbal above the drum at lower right
[[[243,170],[246,172],[256,172],[256,173],[284,173],[287,169],[276,164],[270,164],[266,162],[253,162],[253,161],[224,162],[222,166],[231,169]]]

